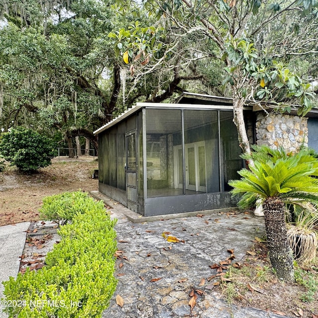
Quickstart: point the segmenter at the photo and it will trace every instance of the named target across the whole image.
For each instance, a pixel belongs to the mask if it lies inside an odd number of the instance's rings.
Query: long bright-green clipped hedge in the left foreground
[[[9,317],[101,317],[116,289],[116,220],[102,201],[87,201],[91,208],[61,227],[61,241],[48,253],[47,266],[3,283],[6,300],[22,304],[6,307]]]

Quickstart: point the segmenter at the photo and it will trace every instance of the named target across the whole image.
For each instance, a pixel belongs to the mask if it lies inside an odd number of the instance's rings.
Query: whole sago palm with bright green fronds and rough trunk
[[[294,280],[293,256],[288,244],[285,204],[318,203],[318,161],[301,150],[287,155],[283,149],[255,146],[254,152],[243,156],[254,166],[239,171],[240,180],[231,180],[232,193],[240,195],[239,206],[246,208],[263,199],[264,221],[269,258],[277,275]]]

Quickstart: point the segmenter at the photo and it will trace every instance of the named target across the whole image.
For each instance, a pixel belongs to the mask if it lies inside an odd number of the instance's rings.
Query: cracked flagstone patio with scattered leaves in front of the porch
[[[241,260],[255,236],[264,235],[263,218],[215,212],[132,223],[124,215],[127,212],[124,207],[107,203],[112,207],[112,217],[118,219],[115,229],[121,252],[116,262],[117,289],[103,318],[282,317],[229,305],[214,291],[213,281],[207,280],[217,274],[209,265],[229,257],[228,249],[234,249],[236,260]],[[162,233],[181,242],[169,242]],[[199,286],[202,278],[205,284]],[[188,302],[192,289],[204,294],[198,295],[191,311]],[[122,307],[116,303],[117,295],[123,299]]]

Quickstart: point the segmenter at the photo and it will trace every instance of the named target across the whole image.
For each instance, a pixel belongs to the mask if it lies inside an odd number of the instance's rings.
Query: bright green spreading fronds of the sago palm
[[[306,150],[286,154],[283,149],[272,150],[267,146],[255,146],[250,155],[254,166],[241,169],[240,180],[231,180],[233,195],[240,195],[240,207],[252,206],[257,197],[280,197],[284,202],[318,202],[317,159]]]

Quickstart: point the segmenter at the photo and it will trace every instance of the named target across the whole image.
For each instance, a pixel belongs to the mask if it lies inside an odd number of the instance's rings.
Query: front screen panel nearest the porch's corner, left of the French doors
[[[182,195],[181,110],[147,109],[146,132],[148,197]]]

